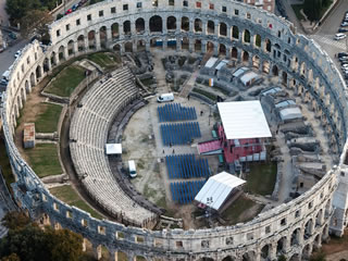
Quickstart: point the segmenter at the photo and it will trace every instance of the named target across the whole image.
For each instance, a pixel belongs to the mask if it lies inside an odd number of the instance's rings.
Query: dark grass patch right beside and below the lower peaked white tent
[[[252,207],[258,206],[258,203],[253,202],[251,199],[246,198],[245,196],[240,196],[236,201],[234,201],[223,213],[222,219],[228,221],[228,225],[237,224],[239,222],[247,222],[253,219],[256,214],[247,214],[246,212]],[[260,204],[258,213],[263,208]]]

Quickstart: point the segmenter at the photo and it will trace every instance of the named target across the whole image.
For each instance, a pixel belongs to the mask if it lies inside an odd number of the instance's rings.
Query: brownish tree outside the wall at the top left
[[[32,33],[42,37],[48,33],[48,25],[53,21],[53,16],[48,10],[32,10],[20,21],[21,34],[27,37]]]

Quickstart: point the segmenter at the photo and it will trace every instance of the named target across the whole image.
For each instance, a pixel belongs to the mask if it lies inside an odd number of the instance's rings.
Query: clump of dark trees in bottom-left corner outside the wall
[[[9,233],[0,240],[0,257],[4,257],[1,261],[78,261],[83,256],[80,235],[49,226],[42,229],[24,216],[11,213],[3,219]]]

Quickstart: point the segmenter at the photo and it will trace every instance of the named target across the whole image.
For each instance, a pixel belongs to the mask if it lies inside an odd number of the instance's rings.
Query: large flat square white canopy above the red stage
[[[272,137],[259,100],[217,102],[227,139]]]

